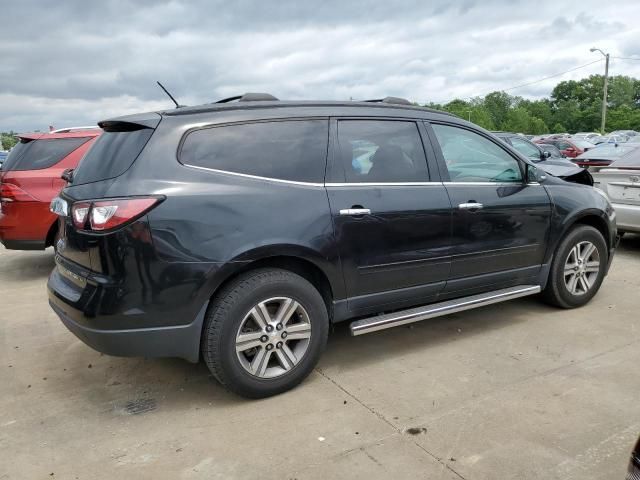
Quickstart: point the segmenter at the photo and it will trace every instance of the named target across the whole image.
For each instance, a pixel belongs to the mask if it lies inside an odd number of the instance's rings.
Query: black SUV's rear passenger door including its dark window
[[[451,203],[424,126],[334,119],[327,193],[352,313],[427,303],[449,275]]]

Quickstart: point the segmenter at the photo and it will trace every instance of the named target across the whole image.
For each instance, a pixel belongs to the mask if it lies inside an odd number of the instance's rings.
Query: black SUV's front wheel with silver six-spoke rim
[[[589,245],[594,249],[591,250]],[[587,255],[589,251],[592,253]],[[587,258],[580,262],[582,256]],[[594,271],[596,256],[597,272]],[[607,244],[598,230],[588,225],[574,227],[556,249],[549,272],[549,280],[542,293],[543,299],[547,303],[561,308],[576,308],[585,305],[600,289],[608,260]],[[565,272],[573,273],[565,275]],[[574,279],[576,280],[575,284],[572,283]]]

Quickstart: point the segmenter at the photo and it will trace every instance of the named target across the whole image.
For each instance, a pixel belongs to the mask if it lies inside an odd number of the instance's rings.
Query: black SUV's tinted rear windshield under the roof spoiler
[[[153,130],[104,132],[73,172],[73,184],[98,182],[122,175],[147,144]]]

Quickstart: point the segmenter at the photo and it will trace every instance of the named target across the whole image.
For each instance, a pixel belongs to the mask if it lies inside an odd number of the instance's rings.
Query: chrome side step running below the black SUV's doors
[[[541,290],[540,285],[518,285],[517,287],[503,288],[501,290],[480,293],[469,297],[447,300],[446,302],[433,303],[408,310],[363,318],[351,322],[349,328],[353,336],[364,335],[365,333],[406,325],[407,323],[419,322],[420,320],[427,320],[428,318],[440,317],[450,313],[491,305],[492,303],[505,302],[507,300],[513,300],[514,298],[534,295],[540,293]]]

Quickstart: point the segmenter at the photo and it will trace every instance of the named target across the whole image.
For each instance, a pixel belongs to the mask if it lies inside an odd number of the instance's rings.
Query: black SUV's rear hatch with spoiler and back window
[[[59,215],[60,240],[56,261],[76,272],[87,269],[104,272],[101,248],[105,247],[102,232],[77,227],[74,224],[74,205],[78,212],[88,212],[101,199],[108,197],[109,187],[134,164],[160,122],[160,115],[143,114],[100,122],[104,133],[86,153],[72,173],[71,182],[52,202],[52,210]],[[67,262],[70,260],[73,263]],[[74,265],[83,269],[74,268]],[[106,272],[105,272],[106,273]]]

